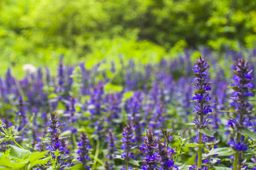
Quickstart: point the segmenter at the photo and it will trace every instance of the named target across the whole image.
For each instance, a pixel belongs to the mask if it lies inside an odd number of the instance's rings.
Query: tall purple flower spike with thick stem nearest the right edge
[[[236,62],[236,70],[234,70],[234,83],[232,84],[233,92],[233,103],[236,108],[236,116],[237,118],[232,118],[229,120],[228,125],[237,131],[236,140],[231,140],[228,142],[228,145],[236,151],[234,156],[234,170],[237,167],[241,167],[242,162],[238,161],[239,155],[242,155],[242,151],[247,150],[247,146],[242,143],[242,137],[240,134],[240,129],[247,130],[249,126],[251,126],[250,122],[250,114],[252,105],[249,103],[249,96],[253,96],[250,92],[251,88],[254,87],[251,80],[253,79],[253,75],[251,73],[253,70],[249,70],[249,65],[244,58],[238,59],[238,63]],[[239,168],[241,169],[241,168]]]

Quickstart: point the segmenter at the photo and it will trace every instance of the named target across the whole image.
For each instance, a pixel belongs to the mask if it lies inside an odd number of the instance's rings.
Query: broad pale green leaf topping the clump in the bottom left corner
[[[31,156],[31,152],[28,150],[24,150],[23,148],[19,148],[13,145],[10,145],[10,153],[9,156],[13,159],[28,159]]]

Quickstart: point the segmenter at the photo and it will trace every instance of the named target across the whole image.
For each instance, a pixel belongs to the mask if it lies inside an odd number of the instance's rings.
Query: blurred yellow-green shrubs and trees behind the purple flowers
[[[217,52],[253,48],[256,1],[251,0],[3,0],[1,74],[24,63],[55,69],[65,62],[134,58],[158,62],[185,48]]]

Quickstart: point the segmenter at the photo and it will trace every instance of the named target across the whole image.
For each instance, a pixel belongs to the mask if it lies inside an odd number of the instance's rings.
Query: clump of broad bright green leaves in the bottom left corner
[[[31,153],[28,150],[10,145],[10,149],[1,155],[0,169],[31,169],[38,164],[47,164],[52,157],[44,158],[48,151]]]

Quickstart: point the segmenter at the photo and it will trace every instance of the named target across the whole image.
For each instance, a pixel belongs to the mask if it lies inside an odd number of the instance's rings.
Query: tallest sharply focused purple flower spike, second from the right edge
[[[209,101],[211,100],[209,96],[209,91],[212,90],[210,88],[210,83],[207,82],[208,78],[208,73],[207,69],[209,66],[207,65],[207,62],[205,61],[204,56],[201,57],[200,59],[196,59],[196,65],[193,67],[194,74],[196,76],[195,79],[193,79],[192,83],[194,85],[194,94],[193,96],[193,101],[197,103],[197,107],[195,107],[193,112],[196,112],[197,115],[200,116],[200,120],[196,118],[194,123],[196,124],[196,128],[198,129],[205,129],[208,124],[208,120],[204,119],[204,116],[208,116],[210,113],[212,113],[212,109],[209,107]],[[199,144],[202,144],[203,141],[203,134],[199,132]],[[202,162],[202,152],[203,152],[203,147],[199,147],[199,156],[198,156],[198,163],[197,167],[201,168],[201,162]]]

